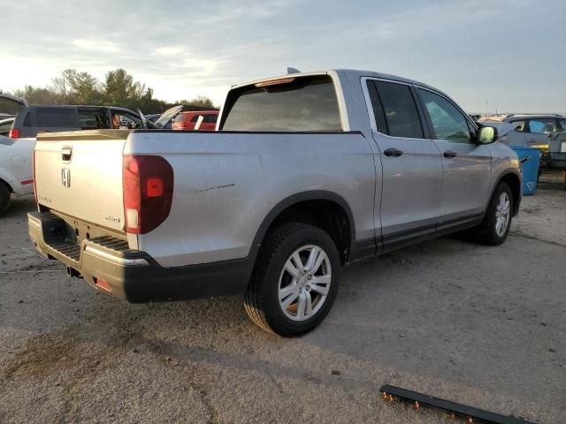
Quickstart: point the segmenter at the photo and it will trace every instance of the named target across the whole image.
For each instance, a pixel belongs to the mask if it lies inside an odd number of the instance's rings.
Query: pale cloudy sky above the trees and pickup
[[[168,101],[285,73],[417,79],[469,111],[566,111],[566,1],[4,0],[0,89],[125,68]]]

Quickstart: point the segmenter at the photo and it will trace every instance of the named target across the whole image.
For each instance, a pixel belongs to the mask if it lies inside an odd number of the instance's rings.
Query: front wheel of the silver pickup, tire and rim
[[[478,243],[487,246],[501,245],[509,234],[513,219],[513,193],[505,182],[501,182],[487,207],[484,221],[474,229]]]

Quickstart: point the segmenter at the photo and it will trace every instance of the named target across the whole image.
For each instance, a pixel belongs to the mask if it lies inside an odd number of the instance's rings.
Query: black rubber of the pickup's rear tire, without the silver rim
[[[331,270],[330,286],[317,312],[310,318],[295,321],[283,312],[279,304],[279,279],[282,278],[287,260],[297,249],[305,246],[317,246],[326,254]],[[254,275],[244,298],[246,313],[260,328],[279,336],[305,334],[317,327],[333,306],[340,284],[339,272],[338,249],[325,231],[306,223],[284,223],[267,234],[257,256]],[[317,293],[314,296],[316,299]]]

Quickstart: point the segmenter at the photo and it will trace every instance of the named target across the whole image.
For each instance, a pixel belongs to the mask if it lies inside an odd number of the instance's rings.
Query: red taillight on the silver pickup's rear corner
[[[161,156],[127,155],[122,167],[126,231],[146,234],[169,216],[173,169]]]

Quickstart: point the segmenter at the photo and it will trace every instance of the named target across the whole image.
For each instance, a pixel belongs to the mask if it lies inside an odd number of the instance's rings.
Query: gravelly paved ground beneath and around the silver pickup
[[[0,422],[454,422],[389,383],[541,423],[566,420],[566,192],[525,198],[504,246],[437,239],[343,269],[309,335],[241,299],[126,305],[0,219]]]

